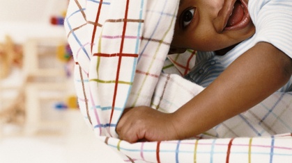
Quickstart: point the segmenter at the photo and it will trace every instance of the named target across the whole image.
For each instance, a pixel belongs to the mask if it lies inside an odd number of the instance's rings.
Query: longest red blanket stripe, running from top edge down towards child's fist
[[[123,25],[123,35],[122,35],[122,40],[121,40],[120,53],[123,53],[123,44],[125,42],[125,30],[127,28],[129,1],[130,0],[127,1],[126,7],[125,7],[125,21],[124,21],[124,25]],[[112,103],[112,113],[111,113],[111,117],[110,117],[110,120],[109,120],[109,124],[112,123],[112,117],[113,117],[113,114],[114,114],[114,106],[116,105],[116,92],[118,91],[118,78],[120,76],[121,62],[122,62],[122,56],[120,55],[119,58],[118,58],[118,69],[116,71],[116,85],[114,86],[114,99],[113,99],[113,103]]]

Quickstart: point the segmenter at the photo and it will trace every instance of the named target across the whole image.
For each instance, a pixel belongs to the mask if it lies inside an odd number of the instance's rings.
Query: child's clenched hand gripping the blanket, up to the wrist
[[[141,106],[125,110],[116,132],[120,139],[137,141],[162,141],[178,139],[173,125],[173,114],[167,114]]]

